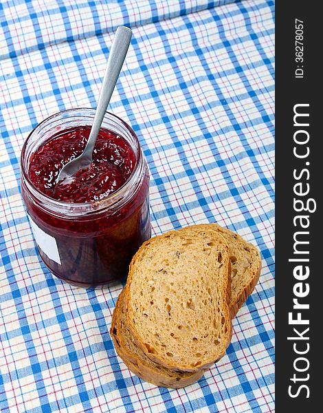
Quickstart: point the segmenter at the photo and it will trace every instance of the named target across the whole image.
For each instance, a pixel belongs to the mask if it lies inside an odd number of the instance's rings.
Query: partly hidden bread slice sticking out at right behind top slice
[[[230,313],[231,317],[234,318],[258,282],[261,272],[261,258],[258,248],[219,224],[197,224],[187,226],[179,231],[186,231],[186,229],[197,231],[200,234],[218,231],[227,242],[231,262]]]

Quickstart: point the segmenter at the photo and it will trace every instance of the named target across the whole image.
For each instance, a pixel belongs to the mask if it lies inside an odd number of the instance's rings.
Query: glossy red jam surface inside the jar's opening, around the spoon
[[[63,166],[84,151],[90,131],[89,126],[58,131],[32,154],[29,177],[39,191],[65,202],[91,202],[122,187],[133,171],[135,154],[124,138],[107,129],[100,129],[89,168],[56,184]]]

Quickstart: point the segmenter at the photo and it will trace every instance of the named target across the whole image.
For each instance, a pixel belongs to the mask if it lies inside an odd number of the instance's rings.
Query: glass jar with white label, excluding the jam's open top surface
[[[92,125],[94,109],[69,109],[43,120],[21,153],[21,194],[38,252],[49,270],[78,286],[122,279],[142,242],[151,237],[149,176],[135,132],[107,112],[102,128],[122,136],[135,153],[128,180],[100,201],[67,203],[38,191],[28,176],[30,156],[58,130]]]

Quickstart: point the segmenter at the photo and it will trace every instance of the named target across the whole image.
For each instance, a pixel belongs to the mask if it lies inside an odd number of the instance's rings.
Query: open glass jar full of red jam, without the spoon
[[[21,194],[38,252],[54,275],[85,287],[125,277],[151,237],[148,167],[135,132],[118,116],[104,116],[90,167],[56,183],[85,148],[94,114],[50,116],[21,153]]]

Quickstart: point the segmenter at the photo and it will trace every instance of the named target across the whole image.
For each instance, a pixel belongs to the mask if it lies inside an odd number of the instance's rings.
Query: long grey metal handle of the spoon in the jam
[[[93,148],[94,145],[96,145],[96,138],[98,137],[104,114],[107,112],[107,107],[109,105],[113,89],[115,88],[115,83],[118,81],[124,59],[126,58],[126,52],[128,51],[130,45],[131,35],[131,29],[120,26],[118,27],[113,39],[107,61],[107,68],[103,78],[100,97],[98,100],[98,107],[94,116],[89,140],[87,141],[87,146],[85,148],[90,162],[92,160]]]

